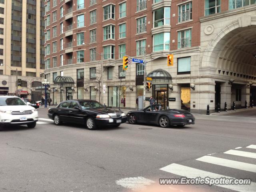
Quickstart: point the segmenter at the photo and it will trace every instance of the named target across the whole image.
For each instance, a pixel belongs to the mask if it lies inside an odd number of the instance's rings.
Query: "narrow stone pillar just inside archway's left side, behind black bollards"
[[[227,109],[231,109],[231,84],[228,82],[220,84],[220,108],[224,109],[225,102],[227,102]]]

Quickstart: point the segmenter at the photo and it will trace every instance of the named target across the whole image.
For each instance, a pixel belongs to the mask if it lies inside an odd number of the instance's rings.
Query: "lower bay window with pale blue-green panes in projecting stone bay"
[[[170,33],[158,33],[153,36],[153,52],[170,50]]]

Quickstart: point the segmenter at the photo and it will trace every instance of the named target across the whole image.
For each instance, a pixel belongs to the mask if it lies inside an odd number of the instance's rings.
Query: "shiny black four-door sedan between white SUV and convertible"
[[[125,113],[106,108],[95,100],[68,100],[48,110],[55,125],[62,122],[85,124],[89,130],[97,127],[118,127],[127,121]]]

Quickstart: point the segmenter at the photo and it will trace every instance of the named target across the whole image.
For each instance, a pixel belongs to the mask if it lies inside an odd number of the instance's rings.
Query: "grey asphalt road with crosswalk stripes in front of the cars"
[[[38,111],[36,128],[0,132],[0,192],[124,192],[150,182],[159,186],[159,178],[194,175],[256,182],[256,108],[198,115],[195,125],[184,128],[122,124],[94,131],[55,126],[46,109]],[[169,190],[180,187],[185,186]],[[256,191],[255,183],[189,187],[189,192]]]

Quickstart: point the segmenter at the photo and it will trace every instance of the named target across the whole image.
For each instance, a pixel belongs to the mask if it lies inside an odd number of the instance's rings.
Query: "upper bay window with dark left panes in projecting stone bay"
[[[154,11],[154,27],[170,25],[171,8],[162,7]]]

